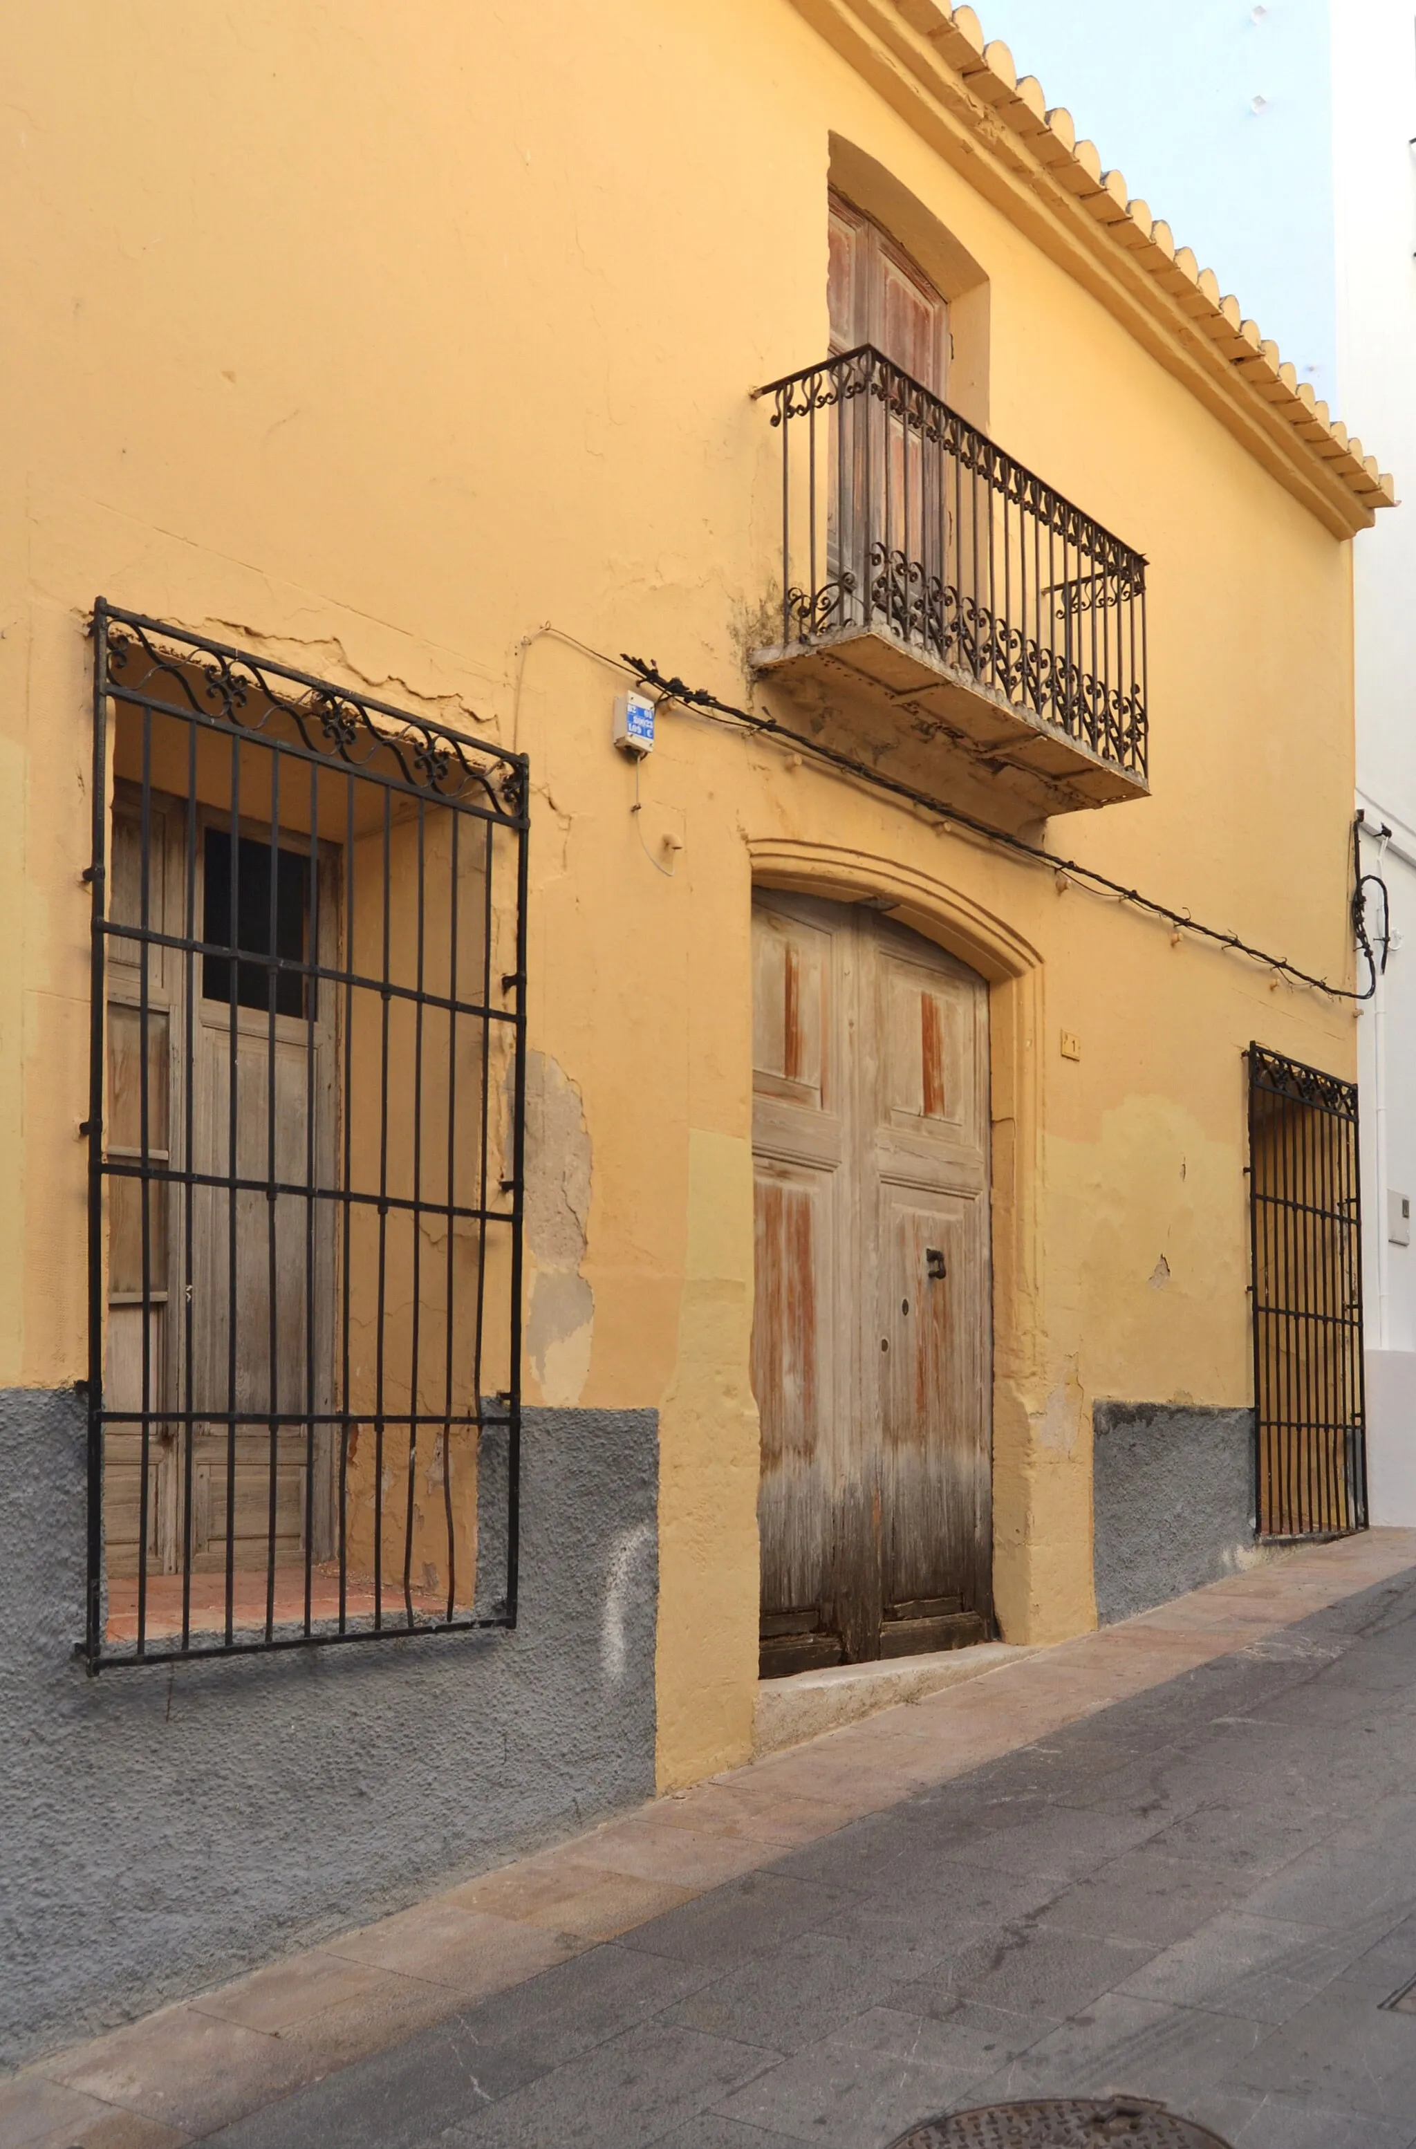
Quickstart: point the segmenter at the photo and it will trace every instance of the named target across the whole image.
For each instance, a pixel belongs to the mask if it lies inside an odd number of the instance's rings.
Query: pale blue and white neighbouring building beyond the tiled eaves
[[[1360,1014],[1371,1519],[1416,1524],[1416,9],[988,0],[980,13],[1405,501],[1354,548],[1356,845],[1377,954]]]

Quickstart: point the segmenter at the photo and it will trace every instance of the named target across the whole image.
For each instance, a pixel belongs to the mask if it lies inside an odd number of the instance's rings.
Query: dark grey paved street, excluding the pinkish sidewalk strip
[[[1416,1573],[791,1850],[206,2138],[881,2149],[1124,2089],[1416,2145]]]

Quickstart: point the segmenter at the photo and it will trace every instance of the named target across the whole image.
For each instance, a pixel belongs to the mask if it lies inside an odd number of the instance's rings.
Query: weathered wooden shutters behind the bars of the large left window
[[[200,821],[189,851],[187,810],[161,793],[148,797],[146,924],[221,946],[230,922],[208,907],[211,836],[226,842],[228,817]],[[269,830],[266,830],[269,834]],[[204,840],[206,838],[206,840]],[[279,851],[288,909],[309,879],[307,838]],[[269,875],[266,842],[243,838],[243,870]],[[262,853],[262,857],[256,857]],[[337,961],[337,868],[320,845],[320,958]],[[324,855],[329,853],[329,855]],[[118,784],[112,827],[112,911],[142,922],[142,804]],[[191,905],[191,922],[187,920]],[[245,920],[239,931],[245,931]],[[297,931],[299,926],[299,931]],[[309,920],[286,918],[281,954],[305,958]],[[299,941],[299,946],[297,946]],[[247,941],[239,939],[245,948]],[[294,1558],[312,1537],[314,1556],[333,1552],[333,1440],[327,1427],[236,1427],[230,1414],[324,1414],[333,1401],[335,1246],[331,1208],[279,1188],[335,1186],[335,1001],[299,976],[277,986],[277,1012],[251,1006],[269,993],[262,965],[239,963],[230,1008],[230,965],[191,963],[155,943],[146,986],[135,943],[116,939],[107,1008],[107,1156],[146,1158],[148,1167],[226,1178],[234,1107],[236,1173],[256,1182],[230,1195],[219,1186],[183,1188],[138,1178],[110,1180],[105,1401],[114,1412],[148,1414],[146,1502],[142,1425],[112,1427],[105,1444],[107,1571],[131,1575],[146,1530],[150,1573],[183,1564],[189,1530],[191,1569],[223,1567],[228,1515],[236,1569],[264,1569],[271,1530],[277,1558]],[[226,995],[226,997],[217,997]],[[281,995],[294,1010],[284,1012]],[[142,1001],[146,999],[146,1068]],[[189,1040],[191,1072],[185,1087]],[[232,1053],[234,1042],[234,1053]],[[146,1083],[144,1083],[146,1077]],[[146,1122],[144,1122],[146,1094]],[[185,1165],[189,1150],[189,1165]],[[146,1208],[146,1231],[144,1231]],[[234,1238],[234,1285],[232,1285]],[[191,1277],[189,1287],[185,1277]],[[144,1354],[144,1315],[146,1354]],[[191,1442],[176,1416],[191,1410]],[[163,1418],[163,1412],[172,1412]],[[204,1414],[211,1412],[211,1418]],[[191,1485],[187,1487],[187,1461]],[[275,1470],[271,1470],[275,1461]],[[275,1491],[275,1500],[271,1494]]]

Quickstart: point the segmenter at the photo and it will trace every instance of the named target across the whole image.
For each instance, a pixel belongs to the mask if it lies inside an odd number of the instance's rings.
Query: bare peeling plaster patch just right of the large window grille
[[[535,1268],[526,1354],[541,1397],[580,1401],[591,1371],[595,1294],[580,1274],[591,1216],[591,1133],[559,1062],[526,1055],[526,1253]]]

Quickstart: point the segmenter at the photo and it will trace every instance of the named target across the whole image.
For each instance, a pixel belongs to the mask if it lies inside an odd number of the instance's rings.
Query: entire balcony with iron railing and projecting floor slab
[[[1145,797],[1143,557],[868,344],[758,395],[782,434],[758,675],[960,806]]]

